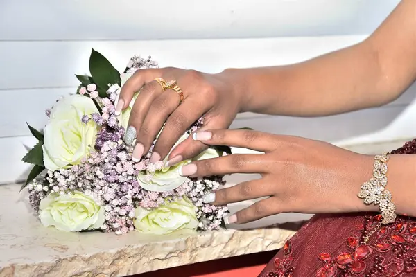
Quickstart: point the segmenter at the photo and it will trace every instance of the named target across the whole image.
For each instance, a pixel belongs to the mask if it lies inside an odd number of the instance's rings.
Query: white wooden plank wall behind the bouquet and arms
[[[288,64],[360,42],[398,2],[0,0],[0,183],[24,179],[28,167],[20,159],[35,142],[25,122],[42,127],[44,109],[75,91],[73,74],[87,73],[92,47],[121,70],[134,54],[213,73]],[[243,114],[233,127],[334,143],[365,140],[415,95],[410,89],[385,107],[326,118]]]

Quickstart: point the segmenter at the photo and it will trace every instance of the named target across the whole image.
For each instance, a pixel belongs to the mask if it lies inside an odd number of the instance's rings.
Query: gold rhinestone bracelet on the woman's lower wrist
[[[383,217],[381,223],[383,224],[394,222],[397,216],[395,213],[396,206],[392,203],[392,194],[385,188],[387,186],[388,159],[387,154],[374,157],[373,177],[361,186],[360,193],[358,193],[358,197],[364,199],[365,204],[379,204]]]

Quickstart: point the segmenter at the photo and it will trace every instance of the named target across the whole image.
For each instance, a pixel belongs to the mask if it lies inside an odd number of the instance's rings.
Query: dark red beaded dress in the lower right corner
[[[390,154],[416,154],[416,139]],[[416,276],[416,218],[380,220],[376,213],[315,215],[260,276]]]

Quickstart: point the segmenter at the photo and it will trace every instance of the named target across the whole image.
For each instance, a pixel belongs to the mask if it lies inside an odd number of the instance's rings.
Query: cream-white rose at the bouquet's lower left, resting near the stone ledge
[[[60,231],[76,232],[98,229],[104,224],[104,208],[87,195],[75,192],[51,193],[39,205],[42,224]]]

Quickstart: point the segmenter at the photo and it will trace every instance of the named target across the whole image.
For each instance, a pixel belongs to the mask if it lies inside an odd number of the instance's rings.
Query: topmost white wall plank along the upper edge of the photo
[[[399,0],[1,0],[1,40],[369,34]]]

